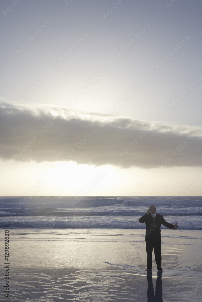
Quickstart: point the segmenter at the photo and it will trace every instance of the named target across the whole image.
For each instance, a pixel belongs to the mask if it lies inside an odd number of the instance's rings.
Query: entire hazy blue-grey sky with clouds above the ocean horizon
[[[0,7],[1,196],[201,196],[200,0]]]

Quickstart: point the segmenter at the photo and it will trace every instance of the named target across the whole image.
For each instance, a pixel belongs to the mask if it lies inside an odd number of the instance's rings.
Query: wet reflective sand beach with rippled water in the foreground
[[[1,229],[1,241],[4,232]],[[162,275],[157,275],[154,256],[151,274],[144,271],[144,233],[142,229],[11,228],[9,299],[201,301],[202,231],[161,230]],[[4,270],[2,266],[1,273]]]

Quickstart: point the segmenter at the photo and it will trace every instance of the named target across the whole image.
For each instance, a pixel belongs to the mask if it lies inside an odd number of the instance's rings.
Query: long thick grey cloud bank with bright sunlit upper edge
[[[132,166],[202,166],[202,127],[1,102],[0,157],[15,161]]]

